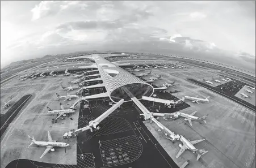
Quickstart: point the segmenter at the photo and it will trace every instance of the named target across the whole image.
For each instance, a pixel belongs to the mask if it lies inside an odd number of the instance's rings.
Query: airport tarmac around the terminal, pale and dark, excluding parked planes
[[[159,98],[173,100],[183,96],[200,98],[210,96],[208,103],[195,104],[186,100],[186,103],[175,109],[168,109],[161,104],[154,103],[154,110],[158,109],[160,113],[173,113],[175,110],[181,110],[183,113],[190,114],[198,110],[195,114],[198,117],[209,114],[207,124],[192,122],[192,127],[184,119],[170,121],[166,118],[159,118],[163,125],[187,139],[205,139],[195,145],[198,149],[204,148],[209,151],[200,158],[199,162],[189,150],[176,159],[175,156],[180,149],[179,143],[172,144],[171,141],[165,139],[162,131],[157,131],[156,124],[146,122],[144,124],[139,118],[140,110],[132,104],[125,103],[121,109],[115,110],[110,117],[100,123],[99,131],[82,132],[77,139],[63,139],[62,135],[66,131],[86,126],[90,120],[95,119],[111,106],[108,106],[109,101],[90,101],[90,108],[77,109],[72,115],[73,120],[66,117],[65,120],[59,118],[57,123],[52,123],[52,118],[56,116],[47,114],[46,106],[57,110],[60,109],[61,102],[66,109],[75,101],[56,100],[56,92],[60,95],[66,94],[65,91],[61,91],[60,84],[69,86],[68,80],[73,79],[71,76],[58,75],[24,81],[12,79],[1,87],[1,102],[2,98],[7,100],[11,95],[15,100],[19,100],[18,98],[24,94],[34,95],[31,97],[30,104],[23,107],[22,112],[2,136],[1,167],[7,165],[7,167],[24,167],[28,164],[29,167],[178,167],[186,160],[190,161],[187,167],[196,168],[255,167],[255,113],[186,80],[191,76],[199,81],[203,77],[205,80],[212,79],[212,76],[217,79],[219,70],[200,67],[198,64],[192,66],[192,63],[188,64],[188,67],[153,69],[152,75],[146,76],[145,79],[161,74],[161,79],[154,82],[154,85],[161,85],[165,81],[171,83],[175,80],[174,87],[169,87],[167,92],[177,93],[173,93],[173,96],[169,93],[156,93]],[[91,89],[91,94],[101,92],[104,92],[104,89]],[[75,90],[70,94],[75,94]],[[152,102],[141,102],[152,110]],[[1,109],[1,114],[3,113],[5,110]],[[27,135],[35,136],[36,140],[47,141],[47,131],[51,132],[53,140],[66,142],[70,144],[70,147],[56,148],[56,152],[47,153],[40,160],[39,157],[45,147],[32,145],[27,148],[30,144]],[[110,157],[111,161],[115,162],[110,163]]]

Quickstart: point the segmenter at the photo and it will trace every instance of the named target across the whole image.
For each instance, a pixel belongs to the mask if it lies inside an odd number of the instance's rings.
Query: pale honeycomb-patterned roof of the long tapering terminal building
[[[106,59],[101,58],[100,54],[94,54],[92,57],[95,59],[95,62],[98,66],[99,74],[102,77],[107,92],[110,95],[111,92],[115,89],[127,84],[142,83],[152,87],[152,85],[145,83],[143,80],[125,71],[123,68],[120,68],[119,66],[116,66],[115,64],[107,61]],[[116,71],[118,71],[119,73],[114,77],[111,77],[107,74],[107,72]]]

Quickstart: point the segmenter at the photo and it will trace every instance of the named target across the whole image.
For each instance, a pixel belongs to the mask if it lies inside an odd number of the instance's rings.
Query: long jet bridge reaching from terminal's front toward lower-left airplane
[[[123,102],[124,102],[123,99],[120,100],[114,106],[112,106],[110,109],[108,109],[106,112],[104,112],[102,115],[100,115],[99,117],[97,117],[94,120],[91,120],[89,122],[88,126],[79,128],[77,130],[70,130],[69,132],[64,133],[63,137],[65,139],[68,139],[69,137],[77,136],[78,133],[83,132],[83,131],[91,130],[91,132],[93,132],[95,130],[99,130],[99,123],[102,122],[103,119],[108,117],[108,115],[110,115],[113,111],[115,111],[121,104],[123,104]]]

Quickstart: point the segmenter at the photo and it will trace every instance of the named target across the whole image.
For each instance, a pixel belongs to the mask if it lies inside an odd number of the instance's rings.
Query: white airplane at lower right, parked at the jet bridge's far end
[[[179,144],[179,147],[181,148],[181,150],[179,150],[176,158],[178,158],[179,156],[181,156],[181,154],[186,150],[186,149],[189,149],[189,150],[192,150],[193,153],[197,153],[198,156],[196,157],[196,161],[199,160],[199,158],[207,153],[208,151],[205,151],[204,149],[196,149],[194,147],[194,144],[197,144],[197,143],[200,143],[201,141],[204,141],[205,139],[200,139],[200,140],[194,140],[194,141],[190,141],[190,140],[187,140],[185,137],[183,137],[182,135],[180,135],[181,138],[179,140],[181,140],[181,142],[183,143],[182,144]],[[169,139],[169,138],[167,138]]]

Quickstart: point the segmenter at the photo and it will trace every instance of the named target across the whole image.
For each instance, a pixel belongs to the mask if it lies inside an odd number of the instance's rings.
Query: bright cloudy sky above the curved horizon
[[[255,1],[1,1],[1,67],[86,50],[200,55],[255,71]]]

